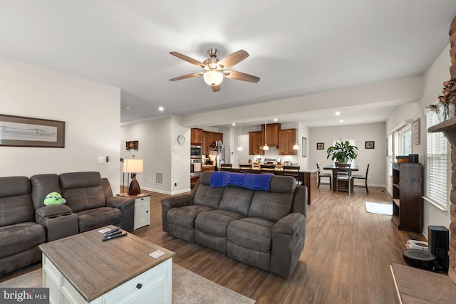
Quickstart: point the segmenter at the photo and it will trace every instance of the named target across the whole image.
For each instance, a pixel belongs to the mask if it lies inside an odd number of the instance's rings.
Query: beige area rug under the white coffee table
[[[17,278],[0,283],[0,288],[41,287],[41,269],[26,273]],[[254,300],[224,288],[212,281],[198,276],[192,271],[172,264],[172,303],[209,304],[209,303],[255,303]]]

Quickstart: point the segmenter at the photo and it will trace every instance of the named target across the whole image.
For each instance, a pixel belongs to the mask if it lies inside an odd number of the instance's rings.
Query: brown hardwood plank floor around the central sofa
[[[369,194],[355,189],[348,196],[326,188],[318,189],[318,199],[309,206],[304,251],[288,280],[164,233],[160,200],[165,194],[147,192],[150,226],[134,234],[174,251],[177,265],[259,304],[399,303],[389,266],[406,265],[402,251],[409,236],[424,237],[399,231],[390,216],[368,214],[365,201],[390,204],[384,189],[369,187]]]

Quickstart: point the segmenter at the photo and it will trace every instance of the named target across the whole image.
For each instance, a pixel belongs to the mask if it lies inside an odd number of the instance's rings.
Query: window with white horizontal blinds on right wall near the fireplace
[[[435,112],[427,112],[427,127],[437,125]],[[442,132],[427,133],[426,196],[447,209],[447,139]]]

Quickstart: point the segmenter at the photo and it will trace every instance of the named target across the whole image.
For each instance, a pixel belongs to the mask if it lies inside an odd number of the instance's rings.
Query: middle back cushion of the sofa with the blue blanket
[[[219,209],[234,211],[247,216],[254,190],[241,187],[227,187],[219,204]]]

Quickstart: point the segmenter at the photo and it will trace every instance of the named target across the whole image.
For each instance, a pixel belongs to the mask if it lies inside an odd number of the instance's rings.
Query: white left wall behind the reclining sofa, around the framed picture
[[[1,57],[0,83],[1,114],[66,122],[63,149],[0,147],[1,177],[98,171],[119,192],[118,88]]]

